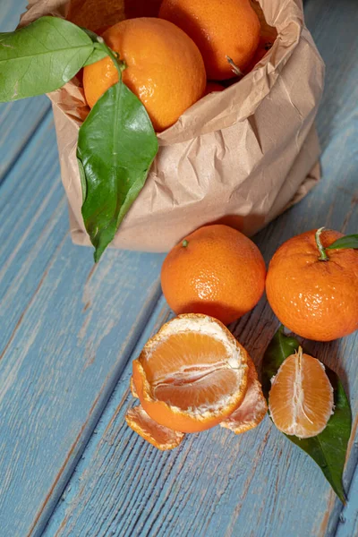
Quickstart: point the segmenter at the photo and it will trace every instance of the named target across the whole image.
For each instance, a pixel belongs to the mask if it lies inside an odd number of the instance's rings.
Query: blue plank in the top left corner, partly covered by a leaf
[[[0,31],[14,30],[19,23],[20,14],[25,11],[26,0],[2,0],[0,3]],[[50,109],[45,96],[24,99],[16,103],[0,104],[0,183],[16,162],[21,151],[29,143]]]

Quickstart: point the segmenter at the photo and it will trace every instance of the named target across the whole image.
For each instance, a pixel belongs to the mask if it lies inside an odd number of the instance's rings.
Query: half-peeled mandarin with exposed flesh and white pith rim
[[[161,425],[206,430],[241,404],[248,354],[218,320],[181,315],[164,325],[133,362],[141,405]]]

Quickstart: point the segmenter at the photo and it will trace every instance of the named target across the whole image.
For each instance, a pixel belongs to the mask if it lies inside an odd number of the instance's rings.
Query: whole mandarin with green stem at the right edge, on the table
[[[331,341],[358,328],[358,251],[328,250],[320,260],[311,230],[282,244],[268,266],[268,303],[286,328],[298,336]],[[342,237],[320,235],[325,248]]]

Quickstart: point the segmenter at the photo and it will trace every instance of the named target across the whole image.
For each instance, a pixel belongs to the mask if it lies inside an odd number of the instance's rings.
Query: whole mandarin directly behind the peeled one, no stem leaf
[[[180,313],[203,313],[229,324],[259,302],[266,267],[259,248],[223,225],[204,226],[168,253],[161,270],[166,302]]]

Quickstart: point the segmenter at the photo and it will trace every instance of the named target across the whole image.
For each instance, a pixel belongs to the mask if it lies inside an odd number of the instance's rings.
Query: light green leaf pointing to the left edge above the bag
[[[93,51],[86,32],[56,17],[41,17],[20,30],[1,33],[0,102],[61,88]]]

